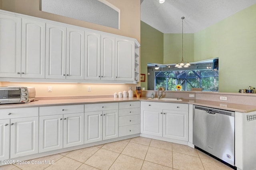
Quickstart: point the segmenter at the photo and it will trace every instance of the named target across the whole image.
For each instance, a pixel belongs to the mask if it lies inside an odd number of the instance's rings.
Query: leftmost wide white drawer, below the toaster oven
[[[14,119],[38,116],[38,107],[0,109],[0,119]]]

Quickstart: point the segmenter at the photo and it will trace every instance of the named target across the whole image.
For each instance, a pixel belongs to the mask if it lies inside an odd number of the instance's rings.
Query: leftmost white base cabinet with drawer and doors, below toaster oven
[[[38,153],[38,107],[0,109],[0,160]]]

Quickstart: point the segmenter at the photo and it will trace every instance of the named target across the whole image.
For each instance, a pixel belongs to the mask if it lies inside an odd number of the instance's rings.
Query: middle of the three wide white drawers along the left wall
[[[84,105],[63,105],[39,107],[40,116],[84,113]]]

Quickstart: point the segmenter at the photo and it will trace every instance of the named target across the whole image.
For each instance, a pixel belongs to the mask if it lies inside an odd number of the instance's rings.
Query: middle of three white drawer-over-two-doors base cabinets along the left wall
[[[39,152],[84,144],[83,106],[40,107]]]

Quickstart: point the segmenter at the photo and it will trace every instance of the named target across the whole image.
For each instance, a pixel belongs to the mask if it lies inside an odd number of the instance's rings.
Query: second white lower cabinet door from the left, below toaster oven
[[[11,119],[10,158],[38,153],[38,117]]]

